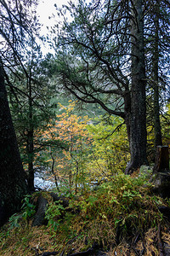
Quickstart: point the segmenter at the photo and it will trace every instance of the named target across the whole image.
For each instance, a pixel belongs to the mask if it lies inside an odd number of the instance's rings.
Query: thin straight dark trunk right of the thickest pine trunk
[[[153,51],[153,88],[154,88],[154,133],[155,133],[155,147],[161,146],[161,122],[160,122],[160,106],[159,106],[159,86],[158,86],[158,64],[159,64],[159,12],[160,12],[160,1],[156,1],[155,11],[155,44]]]

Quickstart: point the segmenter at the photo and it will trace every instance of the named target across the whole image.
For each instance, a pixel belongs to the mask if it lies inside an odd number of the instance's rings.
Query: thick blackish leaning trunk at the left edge
[[[20,160],[0,59],[0,225],[5,218],[20,210],[26,193],[26,175]]]

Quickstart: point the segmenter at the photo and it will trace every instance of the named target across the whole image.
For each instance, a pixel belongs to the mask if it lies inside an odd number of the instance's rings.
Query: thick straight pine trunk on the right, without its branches
[[[130,113],[131,161],[126,173],[131,173],[147,163],[146,157],[146,102],[144,67],[144,21],[142,0],[133,1],[132,34],[132,88]]]

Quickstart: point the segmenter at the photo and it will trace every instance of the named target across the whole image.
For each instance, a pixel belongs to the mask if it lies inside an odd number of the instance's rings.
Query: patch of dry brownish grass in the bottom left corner
[[[0,255],[35,255],[36,249],[42,251],[54,251],[55,239],[51,236],[47,227],[22,226],[20,229],[11,230],[8,236],[1,238]]]

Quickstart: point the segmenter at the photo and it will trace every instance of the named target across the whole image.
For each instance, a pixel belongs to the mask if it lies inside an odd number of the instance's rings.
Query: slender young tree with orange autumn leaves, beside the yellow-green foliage
[[[69,189],[84,189],[86,185],[88,150],[91,144],[87,125],[88,116],[78,116],[75,111],[76,102],[65,107],[59,104],[59,114],[56,120],[43,132],[43,141],[60,141],[59,147],[48,147],[48,163],[55,183],[68,184]],[[62,146],[62,144],[64,146]]]

